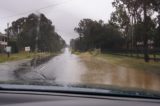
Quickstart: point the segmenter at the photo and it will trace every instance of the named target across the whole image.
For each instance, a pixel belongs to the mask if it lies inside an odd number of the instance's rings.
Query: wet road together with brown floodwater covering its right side
[[[29,68],[24,72],[19,70],[18,75],[12,74],[12,77],[11,73],[13,72],[10,71],[8,76],[1,73],[3,77],[0,80],[19,77],[18,80],[43,80],[60,84],[104,84],[160,91],[160,72],[113,65],[93,56],[81,57],[72,54],[68,48],[36,68]]]

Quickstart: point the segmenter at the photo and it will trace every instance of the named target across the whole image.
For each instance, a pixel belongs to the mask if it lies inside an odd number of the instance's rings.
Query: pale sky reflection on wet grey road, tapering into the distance
[[[54,57],[48,63],[38,67],[41,75],[45,76],[46,80],[54,80],[56,83],[81,83],[81,76],[86,68],[80,61],[78,56],[71,54],[68,48],[64,53]]]

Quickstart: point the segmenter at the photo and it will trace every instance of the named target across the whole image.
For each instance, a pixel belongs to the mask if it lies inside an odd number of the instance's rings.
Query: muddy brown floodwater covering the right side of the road
[[[87,66],[83,83],[160,91],[159,71],[136,70],[91,55],[81,56],[81,59]]]

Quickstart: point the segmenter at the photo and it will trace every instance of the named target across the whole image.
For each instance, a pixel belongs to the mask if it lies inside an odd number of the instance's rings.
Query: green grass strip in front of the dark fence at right
[[[160,62],[144,62],[143,59],[137,59],[132,57],[125,57],[112,54],[100,54],[100,58],[106,59],[108,62],[115,65],[122,65],[125,67],[131,67],[136,70],[144,71],[159,71],[160,72]]]

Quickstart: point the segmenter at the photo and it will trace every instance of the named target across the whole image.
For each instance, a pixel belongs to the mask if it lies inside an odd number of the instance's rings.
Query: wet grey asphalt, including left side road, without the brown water
[[[29,60],[0,64],[0,81],[50,81],[53,83],[81,83],[86,67],[68,48],[48,62],[31,67]]]

